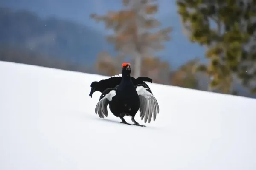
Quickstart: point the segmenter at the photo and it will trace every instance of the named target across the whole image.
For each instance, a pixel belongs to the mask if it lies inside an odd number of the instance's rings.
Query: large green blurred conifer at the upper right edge
[[[176,0],[186,33],[207,47],[210,88],[232,94],[233,80],[256,92],[256,0]]]

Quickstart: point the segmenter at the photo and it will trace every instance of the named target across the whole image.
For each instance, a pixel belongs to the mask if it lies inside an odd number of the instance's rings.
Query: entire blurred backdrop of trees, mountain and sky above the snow
[[[255,30],[256,0],[1,0],[0,60],[107,76],[131,62],[134,77],[255,98]]]

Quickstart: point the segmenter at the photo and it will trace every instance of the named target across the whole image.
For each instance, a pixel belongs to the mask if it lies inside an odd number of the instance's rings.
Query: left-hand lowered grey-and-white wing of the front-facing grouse
[[[116,96],[116,89],[113,88],[108,88],[101,94],[99,102],[95,107],[95,113],[98,113],[100,118],[104,118],[104,115],[108,117],[107,106],[114,96]]]

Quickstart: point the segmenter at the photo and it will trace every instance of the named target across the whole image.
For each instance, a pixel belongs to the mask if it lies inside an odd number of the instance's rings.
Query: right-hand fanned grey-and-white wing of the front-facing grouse
[[[144,122],[151,122],[152,116],[155,121],[159,113],[159,105],[157,99],[153,96],[152,91],[144,84],[135,86],[140,99],[140,118],[144,118]]]

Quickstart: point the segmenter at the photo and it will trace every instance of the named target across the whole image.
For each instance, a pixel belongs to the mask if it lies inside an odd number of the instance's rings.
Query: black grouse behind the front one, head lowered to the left
[[[121,83],[121,81],[122,81],[122,77],[118,76],[118,77],[110,77],[108,79],[100,80],[99,82],[97,81],[92,82],[90,85],[91,91],[89,96],[92,97],[95,91],[100,91],[101,93],[103,93],[103,91],[105,91],[107,88],[115,88]],[[131,77],[131,81],[133,82],[134,85],[143,84],[147,88],[149,88],[149,86],[145,82],[152,83],[152,79],[148,77],[138,77],[137,79],[135,79],[134,77]]]

